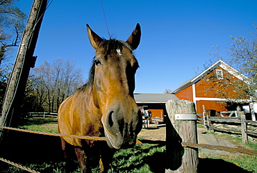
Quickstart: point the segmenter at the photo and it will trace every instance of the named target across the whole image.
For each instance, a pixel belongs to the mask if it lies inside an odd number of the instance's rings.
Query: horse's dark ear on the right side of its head
[[[131,46],[133,50],[137,49],[141,38],[141,27],[140,24],[135,26],[134,31],[132,32],[131,36],[126,40],[126,43]]]

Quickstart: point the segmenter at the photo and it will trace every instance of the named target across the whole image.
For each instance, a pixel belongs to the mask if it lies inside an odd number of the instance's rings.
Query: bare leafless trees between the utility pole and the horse
[[[69,60],[55,59],[52,64],[45,61],[33,69],[33,73],[36,100],[48,112],[56,112],[60,104],[83,85],[82,70]]]

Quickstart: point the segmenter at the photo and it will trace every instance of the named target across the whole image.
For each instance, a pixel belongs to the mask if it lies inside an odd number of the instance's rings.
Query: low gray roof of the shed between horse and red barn
[[[142,94],[135,93],[135,102],[137,104],[165,104],[170,99],[179,100],[174,94]]]

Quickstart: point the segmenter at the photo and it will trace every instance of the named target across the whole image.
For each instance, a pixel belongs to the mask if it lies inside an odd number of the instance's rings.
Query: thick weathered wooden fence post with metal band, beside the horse
[[[197,172],[198,149],[183,148],[181,142],[197,143],[197,115],[194,102],[169,100],[166,126],[166,173]]]

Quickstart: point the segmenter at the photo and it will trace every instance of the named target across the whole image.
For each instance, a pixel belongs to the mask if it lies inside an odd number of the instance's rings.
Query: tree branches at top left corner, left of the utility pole
[[[0,64],[17,47],[24,30],[26,15],[15,5],[16,0],[0,0]]]

